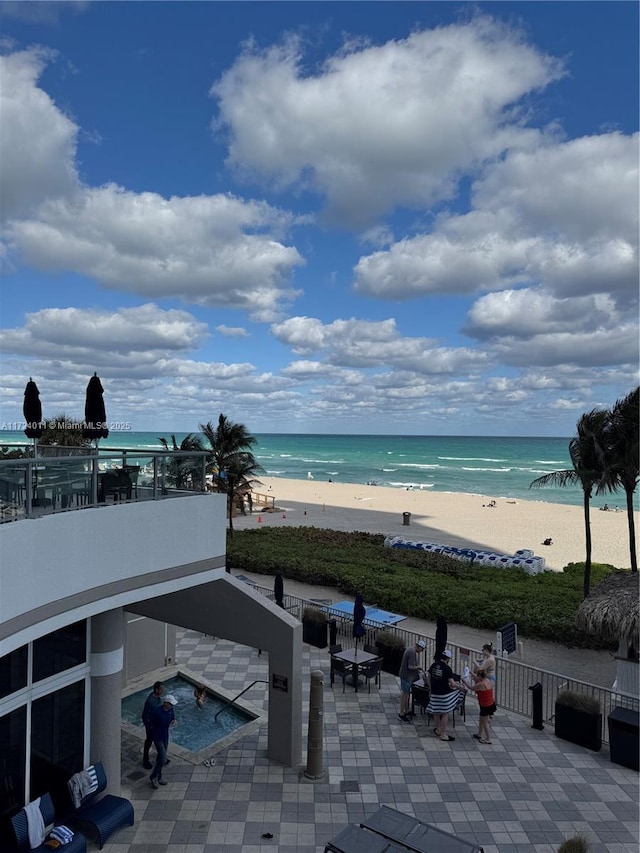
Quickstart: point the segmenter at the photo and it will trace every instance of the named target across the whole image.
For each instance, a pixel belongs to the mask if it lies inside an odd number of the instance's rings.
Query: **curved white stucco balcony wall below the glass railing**
[[[224,496],[190,495],[1,525],[0,656],[72,621],[219,577],[225,511]]]

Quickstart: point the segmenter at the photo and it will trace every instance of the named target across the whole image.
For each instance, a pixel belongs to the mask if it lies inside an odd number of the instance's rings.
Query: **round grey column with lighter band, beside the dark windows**
[[[91,619],[91,763],[101,761],[107,791],[120,793],[120,737],[125,622],[122,608]]]

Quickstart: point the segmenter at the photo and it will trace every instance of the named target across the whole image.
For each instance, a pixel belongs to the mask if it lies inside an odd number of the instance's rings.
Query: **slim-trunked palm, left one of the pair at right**
[[[603,430],[609,412],[593,409],[582,415],[576,425],[576,435],[569,442],[569,456],[573,468],[565,471],[552,471],[544,477],[538,477],[529,483],[530,489],[543,486],[568,486],[580,484],[583,495],[585,563],[584,597],[589,595],[591,585],[591,521],[590,500],[594,487],[604,476],[605,455],[603,448]]]

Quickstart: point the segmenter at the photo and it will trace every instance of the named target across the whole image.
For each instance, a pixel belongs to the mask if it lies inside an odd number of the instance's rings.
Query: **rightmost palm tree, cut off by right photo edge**
[[[640,387],[618,400],[609,412],[604,428],[606,470],[598,488],[598,492],[617,492],[618,488],[624,489],[627,498],[629,556],[632,572],[638,571],[633,493],[640,478],[638,471],[639,394]]]

